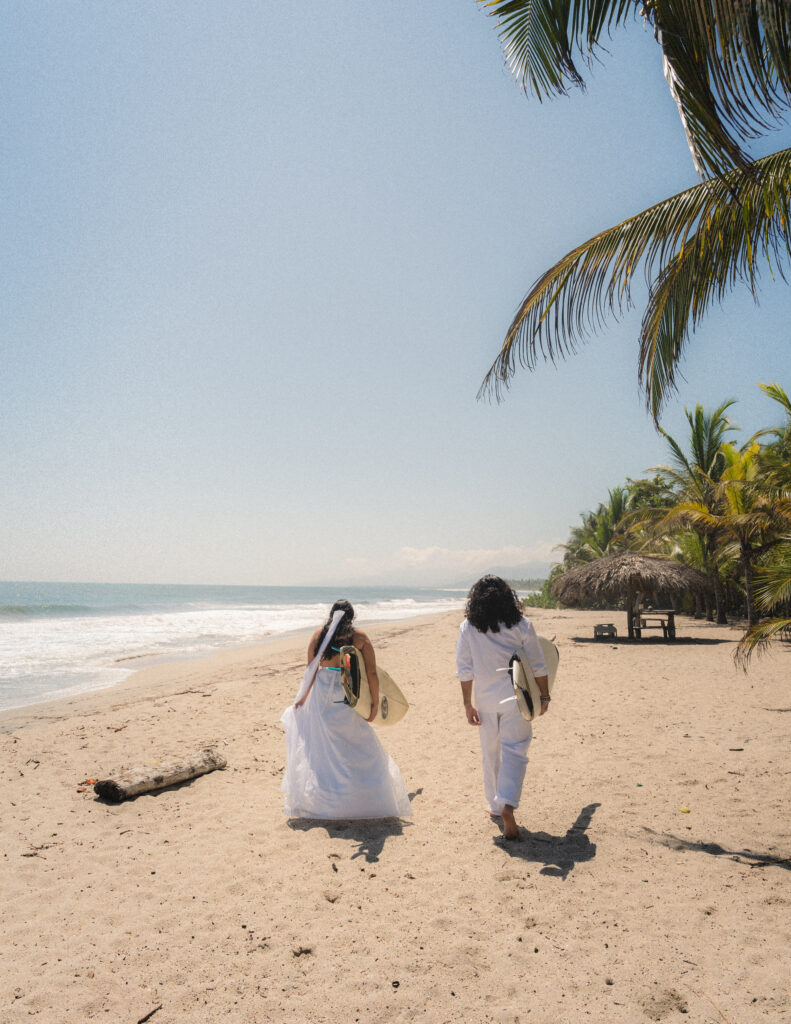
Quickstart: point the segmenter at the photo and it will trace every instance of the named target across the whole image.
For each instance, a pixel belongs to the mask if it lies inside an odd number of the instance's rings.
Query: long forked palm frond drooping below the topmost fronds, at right
[[[519,306],[478,396],[498,399],[518,366],[574,353],[632,305],[642,267],[651,287],[639,373],[655,419],[675,386],[691,330],[738,281],[755,288],[758,260],[782,275],[791,255],[791,148],[749,173],[694,185],[600,231],[546,270]]]

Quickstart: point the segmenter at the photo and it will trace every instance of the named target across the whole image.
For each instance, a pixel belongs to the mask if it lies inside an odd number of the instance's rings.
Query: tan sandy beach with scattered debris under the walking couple
[[[791,651],[745,676],[733,627],[529,614],[560,672],[521,844],[485,810],[459,612],[369,631],[411,701],[379,731],[408,822],[284,818],[302,639],[3,715],[0,1021],[791,1020]],[[227,768],[156,795],[81,784],[205,745]]]

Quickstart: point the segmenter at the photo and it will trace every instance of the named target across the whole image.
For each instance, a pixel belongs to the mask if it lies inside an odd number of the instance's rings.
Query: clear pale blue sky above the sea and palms
[[[539,569],[665,460],[639,305],[475,400],[542,270],[695,183],[640,24],[539,103],[473,0],[4,11],[0,578]],[[745,436],[778,420],[790,298],[713,311],[666,429],[725,397]]]

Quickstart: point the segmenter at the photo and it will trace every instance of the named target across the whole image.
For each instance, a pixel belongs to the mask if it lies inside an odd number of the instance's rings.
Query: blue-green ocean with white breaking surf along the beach
[[[461,590],[0,583],[0,710],[105,689],[156,662],[309,632],[345,597],[357,622],[461,608]]]

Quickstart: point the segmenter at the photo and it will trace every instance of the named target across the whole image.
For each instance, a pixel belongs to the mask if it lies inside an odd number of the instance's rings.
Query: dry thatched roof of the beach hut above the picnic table
[[[666,558],[652,558],[634,551],[607,555],[565,572],[552,587],[564,604],[582,604],[591,598],[631,606],[635,594],[704,593],[711,581],[697,569]]]

